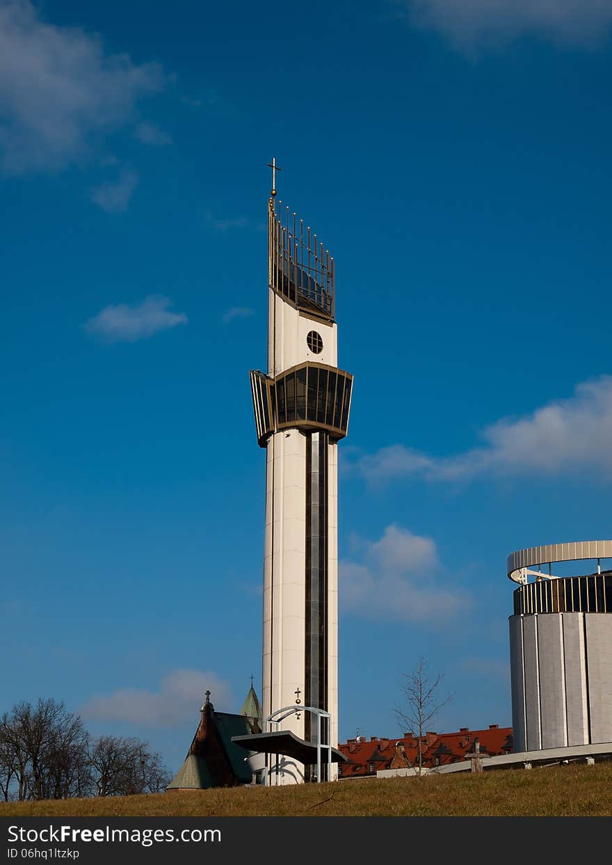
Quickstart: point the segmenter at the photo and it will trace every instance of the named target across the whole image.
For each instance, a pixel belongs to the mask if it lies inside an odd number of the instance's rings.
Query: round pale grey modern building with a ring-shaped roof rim
[[[514,751],[612,742],[612,541],[520,549],[510,617]],[[560,562],[594,569],[555,576]],[[536,570],[537,568],[537,570]],[[565,570],[565,568],[564,568]]]

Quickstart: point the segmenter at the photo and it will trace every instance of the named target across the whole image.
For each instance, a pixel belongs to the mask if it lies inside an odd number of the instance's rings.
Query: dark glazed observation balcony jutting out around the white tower
[[[251,388],[261,447],[283,429],[325,430],[335,441],[347,434],[353,376],[343,369],[305,362],[275,378],[254,369]]]

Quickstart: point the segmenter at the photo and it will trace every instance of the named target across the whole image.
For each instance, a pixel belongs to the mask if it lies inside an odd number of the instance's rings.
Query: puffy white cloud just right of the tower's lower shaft
[[[363,541],[363,561],[341,561],[339,597],[362,618],[439,625],[469,606],[465,592],[447,586],[436,544],[408,529],[387,526],[379,541]]]

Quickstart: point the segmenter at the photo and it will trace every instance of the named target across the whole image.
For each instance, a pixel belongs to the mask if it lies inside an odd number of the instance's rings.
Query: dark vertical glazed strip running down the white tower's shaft
[[[306,669],[305,704],[328,709],[328,433],[306,437]],[[304,718],[316,740],[316,716]],[[328,724],[322,721],[322,741]]]

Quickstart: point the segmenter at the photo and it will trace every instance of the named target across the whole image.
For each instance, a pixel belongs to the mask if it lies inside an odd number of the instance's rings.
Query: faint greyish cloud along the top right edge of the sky
[[[412,22],[462,48],[536,34],[590,47],[609,34],[610,0],[399,0]]]

